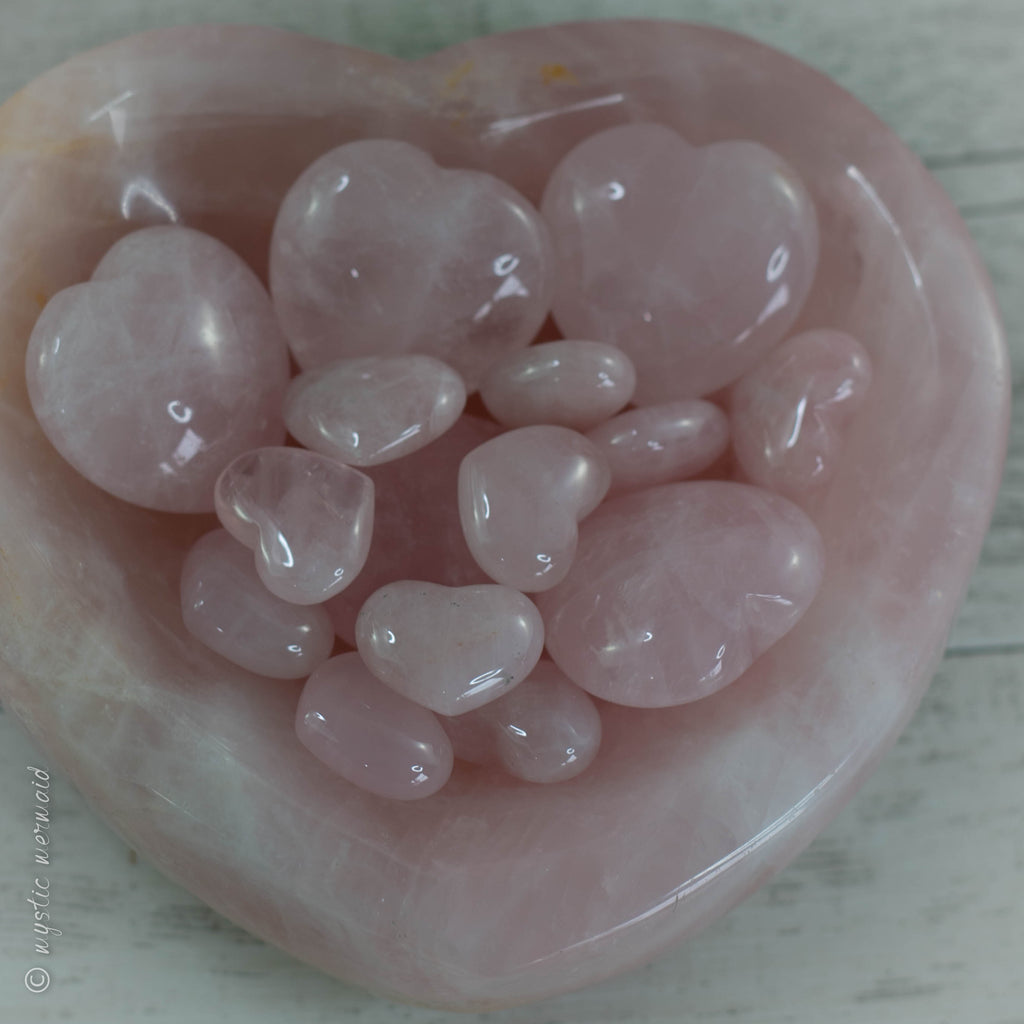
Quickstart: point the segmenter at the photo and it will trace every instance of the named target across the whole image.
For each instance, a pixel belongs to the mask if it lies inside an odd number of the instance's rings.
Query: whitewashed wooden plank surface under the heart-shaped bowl
[[[0,97],[158,25],[251,22],[415,56],[595,16],[745,32],[878,112],[959,205],[1024,381],[1024,0],[0,0]],[[500,1024],[1024,1024],[1024,409],[949,652],[916,717],[773,883],[644,971]],[[441,1024],[266,946],[171,885],[55,781],[48,991],[30,994],[32,793],[45,764],[0,716],[0,1024],[358,1019]],[[472,1018],[469,1018],[472,1019]]]

